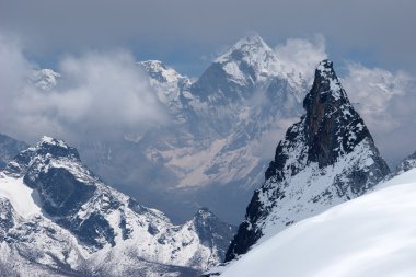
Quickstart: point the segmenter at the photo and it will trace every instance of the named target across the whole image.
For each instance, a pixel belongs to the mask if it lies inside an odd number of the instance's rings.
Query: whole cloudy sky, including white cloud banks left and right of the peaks
[[[91,126],[94,134],[105,132],[102,123],[108,120],[123,123],[123,131],[139,125],[127,118],[163,124],[163,111],[136,60],[161,59],[198,77],[227,46],[257,32],[282,62],[304,72],[316,60],[333,59],[351,101],[394,163],[416,150],[415,10],[413,0],[0,0],[0,107],[10,112],[0,127],[32,139],[27,134],[37,136],[45,126],[65,136]],[[33,67],[65,73],[67,85],[50,95],[22,89]],[[103,72],[105,83],[95,78]],[[123,85],[127,101],[113,94]],[[92,105],[97,95],[101,104]],[[69,105],[73,99],[78,102]],[[35,102],[42,105],[34,107]],[[109,104],[123,112],[109,116]],[[83,129],[79,123],[85,120],[92,123]]]

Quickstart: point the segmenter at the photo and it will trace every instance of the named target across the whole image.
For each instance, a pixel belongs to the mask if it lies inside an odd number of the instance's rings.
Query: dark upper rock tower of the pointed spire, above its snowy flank
[[[351,152],[365,138],[372,142],[361,117],[350,105],[332,61],[324,60],[316,68],[303,107],[307,109],[309,158],[319,162],[321,168],[334,163],[342,154]]]

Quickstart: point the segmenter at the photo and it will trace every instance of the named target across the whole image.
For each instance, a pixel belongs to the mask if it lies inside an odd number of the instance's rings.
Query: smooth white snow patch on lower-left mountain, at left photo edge
[[[41,213],[41,207],[36,204],[37,193],[23,184],[22,178],[9,177],[1,172],[0,197],[8,198],[14,210],[23,218]]]

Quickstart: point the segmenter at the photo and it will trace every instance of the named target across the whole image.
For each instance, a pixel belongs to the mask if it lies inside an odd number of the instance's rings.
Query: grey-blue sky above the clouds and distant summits
[[[22,36],[43,62],[127,47],[198,74],[224,45],[257,31],[271,45],[323,34],[335,61],[415,72],[415,10],[412,0],[0,0],[0,28]]]

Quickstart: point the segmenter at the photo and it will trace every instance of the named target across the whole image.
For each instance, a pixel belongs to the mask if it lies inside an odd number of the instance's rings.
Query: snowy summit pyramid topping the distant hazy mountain
[[[219,56],[190,90],[201,99],[216,99],[217,103],[224,99],[244,100],[254,88],[278,76],[282,76],[282,70],[275,51],[262,37],[251,35]]]

